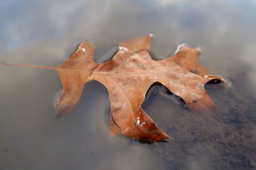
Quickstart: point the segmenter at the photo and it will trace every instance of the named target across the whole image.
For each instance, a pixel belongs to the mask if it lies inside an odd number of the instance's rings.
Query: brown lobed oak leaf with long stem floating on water
[[[156,82],[184,99],[190,111],[214,111],[214,103],[204,85],[211,80],[225,80],[198,63],[200,50],[183,45],[172,57],[153,60],[150,56],[151,37],[119,43],[113,59],[102,64],[93,61],[96,46],[83,41],[60,66],[32,66],[54,69],[60,74],[63,93],[58,100],[56,118],[70,113],[83,92],[84,84],[90,80],[97,80],[108,89],[111,136],[122,134],[132,139],[156,141],[170,138],[141,108],[147,90]]]

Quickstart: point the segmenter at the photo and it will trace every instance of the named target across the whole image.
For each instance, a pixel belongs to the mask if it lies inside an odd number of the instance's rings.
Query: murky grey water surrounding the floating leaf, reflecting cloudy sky
[[[104,62],[117,42],[152,33],[156,59],[199,46],[200,62],[231,85],[205,85],[216,113],[191,113],[152,87],[143,109],[174,139],[143,144],[109,138],[108,91],[97,81],[54,120],[58,74],[0,64],[0,169],[256,169],[255,16],[256,1],[242,0],[1,1],[5,62],[57,66],[83,39]]]

